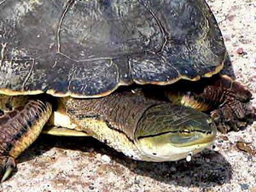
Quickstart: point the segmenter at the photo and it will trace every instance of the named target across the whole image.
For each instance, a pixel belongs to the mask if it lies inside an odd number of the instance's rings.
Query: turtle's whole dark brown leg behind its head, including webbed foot
[[[226,75],[192,84],[183,84],[181,92],[166,91],[166,94],[178,104],[209,112],[223,133],[230,129],[239,131],[247,125],[247,119],[253,113],[252,94],[243,85]]]

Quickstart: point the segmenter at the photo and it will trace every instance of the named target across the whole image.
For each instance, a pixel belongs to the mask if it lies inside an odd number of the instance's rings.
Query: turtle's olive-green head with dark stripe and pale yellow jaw
[[[207,114],[183,106],[161,104],[148,108],[137,124],[135,143],[148,161],[172,161],[201,152],[216,137]]]

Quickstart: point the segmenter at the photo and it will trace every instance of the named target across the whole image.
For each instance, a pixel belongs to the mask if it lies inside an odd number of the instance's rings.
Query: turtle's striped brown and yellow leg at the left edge
[[[52,112],[51,104],[26,96],[0,97],[0,181],[15,168],[15,159],[38,137]]]

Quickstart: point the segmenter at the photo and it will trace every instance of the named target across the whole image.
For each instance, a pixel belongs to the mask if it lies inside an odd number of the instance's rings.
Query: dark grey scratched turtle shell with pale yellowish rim
[[[226,53],[204,0],[4,0],[0,92],[107,96],[211,77]]]

